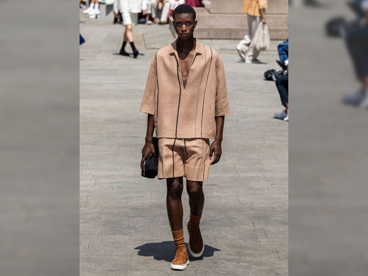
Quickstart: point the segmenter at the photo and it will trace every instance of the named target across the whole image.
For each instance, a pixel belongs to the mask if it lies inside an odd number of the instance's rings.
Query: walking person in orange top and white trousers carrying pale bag
[[[245,63],[260,63],[257,59],[259,51],[251,42],[259,22],[266,24],[265,10],[267,7],[267,0],[244,0],[243,2],[243,13],[247,14],[249,33],[244,36],[236,49]]]

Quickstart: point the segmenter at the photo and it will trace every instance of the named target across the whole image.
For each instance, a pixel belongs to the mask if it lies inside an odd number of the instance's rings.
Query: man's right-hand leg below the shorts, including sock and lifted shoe
[[[187,192],[190,206],[190,220],[187,226],[189,231],[189,249],[193,257],[201,256],[204,249],[201,230],[199,230],[199,221],[201,220],[205,203],[205,195],[202,186],[202,181],[187,180]]]

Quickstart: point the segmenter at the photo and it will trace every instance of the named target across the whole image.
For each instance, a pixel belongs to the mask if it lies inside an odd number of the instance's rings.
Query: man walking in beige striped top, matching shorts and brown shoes
[[[173,11],[178,39],[158,50],[152,59],[141,112],[148,113],[142,162],[156,155],[153,128],[159,144],[158,178],[166,178],[166,206],[176,255],[171,269],[189,264],[184,245],[183,176],[189,195],[189,252],[199,257],[204,242],[199,230],[204,205],[203,181],[208,181],[210,163],[219,162],[224,115],[230,114],[224,66],[219,54],[193,38],[195,11],[182,4]],[[215,139],[211,146],[209,139]],[[211,162],[211,158],[213,160]]]

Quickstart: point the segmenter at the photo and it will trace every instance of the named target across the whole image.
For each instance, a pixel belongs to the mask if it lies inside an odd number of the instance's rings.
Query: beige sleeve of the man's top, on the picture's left
[[[155,88],[156,88],[156,55],[151,61],[149,68],[146,89],[144,91],[141,112],[152,114],[155,110]]]

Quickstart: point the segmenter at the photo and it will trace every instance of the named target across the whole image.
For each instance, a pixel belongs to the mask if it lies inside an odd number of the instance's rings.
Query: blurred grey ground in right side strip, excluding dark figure
[[[325,32],[356,16],[319,2],[289,8],[289,273],[367,275],[367,110],[342,104],[360,83],[344,40]]]

